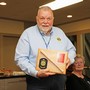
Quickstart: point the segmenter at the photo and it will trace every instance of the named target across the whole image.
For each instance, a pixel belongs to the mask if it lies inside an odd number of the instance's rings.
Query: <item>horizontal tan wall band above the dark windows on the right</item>
[[[62,28],[65,33],[90,30],[90,19],[60,25],[59,27]]]

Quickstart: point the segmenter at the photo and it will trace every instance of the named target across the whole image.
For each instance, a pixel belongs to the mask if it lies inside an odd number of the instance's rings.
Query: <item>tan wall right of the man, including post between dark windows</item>
[[[68,36],[76,35],[77,53],[83,55],[83,35],[84,33],[90,32],[90,19],[60,25],[58,27],[60,27]]]

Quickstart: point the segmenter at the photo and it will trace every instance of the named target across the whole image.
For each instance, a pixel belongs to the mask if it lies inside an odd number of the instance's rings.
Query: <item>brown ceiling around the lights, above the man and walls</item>
[[[6,6],[0,6],[0,19],[20,20],[35,22],[38,7],[54,0],[0,0],[7,2]],[[66,16],[72,14],[68,19]],[[74,4],[54,11],[54,25],[71,23],[90,18],[90,0]]]

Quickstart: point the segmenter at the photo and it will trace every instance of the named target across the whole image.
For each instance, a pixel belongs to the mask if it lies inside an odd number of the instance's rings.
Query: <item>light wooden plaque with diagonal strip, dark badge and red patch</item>
[[[36,70],[48,69],[57,74],[66,74],[67,52],[39,49]]]

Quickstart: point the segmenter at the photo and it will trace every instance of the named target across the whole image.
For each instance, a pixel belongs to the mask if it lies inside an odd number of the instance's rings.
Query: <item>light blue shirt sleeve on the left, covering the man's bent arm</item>
[[[27,32],[23,32],[16,46],[15,61],[22,71],[36,77],[38,71],[29,60],[30,50]]]

